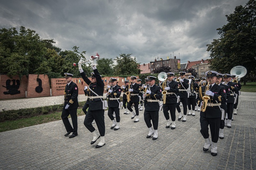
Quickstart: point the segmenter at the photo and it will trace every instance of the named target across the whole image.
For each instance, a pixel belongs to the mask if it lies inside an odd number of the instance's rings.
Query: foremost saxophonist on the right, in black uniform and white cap
[[[207,77],[207,82],[209,82],[209,86],[201,86],[199,88],[199,95],[197,97],[198,106],[204,106],[206,104],[206,100],[203,97],[206,95],[210,99],[207,102],[207,106],[205,106],[205,111],[200,112],[200,125],[201,125],[201,134],[204,138],[204,147],[203,151],[208,151],[211,146],[211,155],[217,155],[217,142],[219,139],[219,127],[221,124],[221,103],[225,102],[227,97],[224,87],[215,84],[216,76],[218,73],[216,71],[207,71],[205,73]],[[209,90],[205,90],[205,88],[209,88]],[[204,102],[203,102],[204,101]],[[209,128],[211,131],[212,143],[209,139]]]

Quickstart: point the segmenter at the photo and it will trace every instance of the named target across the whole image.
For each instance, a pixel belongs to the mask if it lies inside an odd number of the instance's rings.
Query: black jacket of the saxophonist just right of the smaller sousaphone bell
[[[179,83],[172,80],[171,82],[168,83],[168,81],[166,82],[166,87],[170,87],[170,90],[166,90],[167,92],[173,92],[175,94],[170,94],[170,95],[166,95],[166,104],[173,104],[173,103],[177,103],[177,96],[179,94]],[[165,89],[163,89],[165,90]]]

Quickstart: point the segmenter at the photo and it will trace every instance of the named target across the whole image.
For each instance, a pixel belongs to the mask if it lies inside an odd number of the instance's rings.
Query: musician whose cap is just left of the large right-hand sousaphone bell
[[[228,120],[227,120],[227,127],[231,128],[231,120],[233,116],[233,110],[234,110],[234,93],[238,91],[238,88],[236,87],[236,83],[233,83],[231,81],[231,75],[230,74],[223,74],[223,83],[229,86],[230,89],[230,97],[227,99],[227,114],[228,114]]]

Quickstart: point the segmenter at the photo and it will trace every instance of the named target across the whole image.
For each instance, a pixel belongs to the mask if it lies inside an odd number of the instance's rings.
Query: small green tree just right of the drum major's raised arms
[[[114,61],[112,58],[100,58],[97,60],[97,69],[100,74],[113,75]]]

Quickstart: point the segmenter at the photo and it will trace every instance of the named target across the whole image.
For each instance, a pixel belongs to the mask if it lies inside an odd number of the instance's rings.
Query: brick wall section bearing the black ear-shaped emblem
[[[50,84],[48,76],[44,74],[29,74],[27,98],[45,96],[50,96]]]

